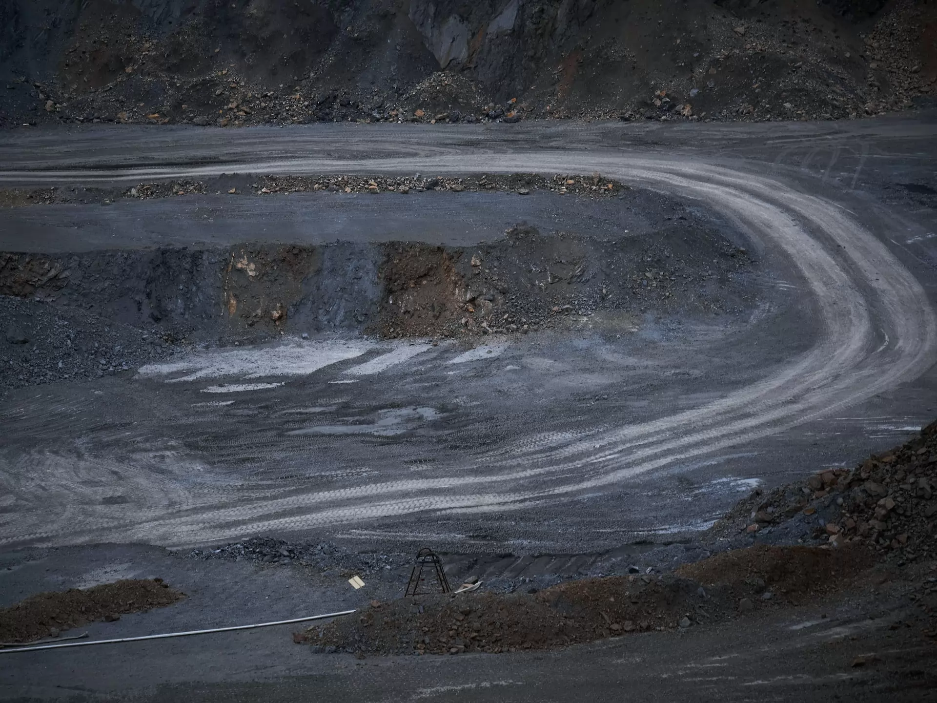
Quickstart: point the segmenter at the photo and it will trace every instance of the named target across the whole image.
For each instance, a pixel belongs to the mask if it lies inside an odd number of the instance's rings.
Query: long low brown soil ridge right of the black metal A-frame
[[[687,630],[842,588],[868,564],[857,549],[756,546],[674,575],[585,578],[509,594],[374,601],[354,618],[293,636],[316,651],[492,653],[566,647],[649,630]]]

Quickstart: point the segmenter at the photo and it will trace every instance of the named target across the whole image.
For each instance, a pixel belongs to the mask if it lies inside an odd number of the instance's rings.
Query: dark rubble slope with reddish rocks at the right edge
[[[937,421],[852,470],[821,471],[766,494],[756,490],[712,534],[862,545],[893,561],[937,558]]]

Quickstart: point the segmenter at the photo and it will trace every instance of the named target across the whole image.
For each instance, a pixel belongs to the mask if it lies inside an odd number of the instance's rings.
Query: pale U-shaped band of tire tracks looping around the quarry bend
[[[366,144],[366,140],[362,143]],[[380,140],[378,140],[380,142]],[[375,151],[399,151],[393,143]],[[364,148],[364,146],[362,147]],[[527,149],[479,156],[471,147],[424,144],[415,156],[373,159],[297,157],[167,169],[21,172],[23,180],[50,182],[131,182],[152,178],[200,177],[234,169],[269,173],[396,172],[556,172],[599,171],[636,187],[650,187],[704,202],[736,222],[748,236],[777,250],[799,268],[822,317],[822,332],[810,352],[750,386],[690,411],[644,424],[602,429],[558,446],[530,447],[518,438],[474,462],[459,462],[458,475],[439,479],[363,484],[336,491],[290,491],[216,488],[207,493],[192,486],[186,509],[178,503],[142,520],[113,523],[94,510],[67,514],[49,524],[36,516],[35,526],[17,517],[17,534],[0,543],[37,540],[45,544],[143,541],[188,546],[265,531],[302,531],[387,516],[427,511],[523,507],[528,501],[568,496],[617,484],[648,471],[744,444],[829,415],[870,396],[913,381],[935,360],[937,320],[916,278],[855,219],[833,202],[804,195],[780,179],[707,164],[687,155],[664,157],[635,150],[620,157],[607,152],[540,152]],[[432,154],[427,157],[426,154]],[[15,172],[0,174],[12,180]],[[843,248],[844,247],[844,248]],[[887,336],[876,349],[873,331]],[[517,444],[519,452],[512,452]],[[520,468],[518,467],[520,465]],[[6,473],[6,472],[5,472]],[[574,480],[551,478],[554,474]],[[4,483],[9,476],[5,476]],[[141,483],[145,481],[141,480]],[[497,492],[479,488],[505,486]],[[9,486],[13,487],[13,486]],[[147,491],[166,490],[151,486]],[[465,493],[459,492],[464,489]],[[180,492],[185,493],[184,488]],[[376,502],[377,501],[377,502]],[[245,504],[246,503],[246,504]],[[299,515],[297,515],[297,513]],[[68,515],[71,515],[70,517]],[[81,528],[76,530],[74,518]],[[39,525],[42,527],[40,528]]]

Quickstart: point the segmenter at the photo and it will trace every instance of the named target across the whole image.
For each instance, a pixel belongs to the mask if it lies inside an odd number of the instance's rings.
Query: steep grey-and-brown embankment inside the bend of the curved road
[[[528,332],[601,310],[736,312],[753,300],[735,277],[750,266],[748,253],[718,232],[691,232],[677,221],[653,238],[604,240],[544,236],[519,225],[480,247],[392,242],[6,252],[0,253],[0,294],[94,311],[173,339],[288,330],[463,336]]]

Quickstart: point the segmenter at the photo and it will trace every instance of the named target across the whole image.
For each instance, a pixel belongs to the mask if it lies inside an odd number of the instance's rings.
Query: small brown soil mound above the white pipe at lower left
[[[171,606],[185,597],[161,578],[125,579],[84,591],[37,593],[0,610],[0,641],[31,642],[57,636],[86,622],[116,620],[124,613]]]

